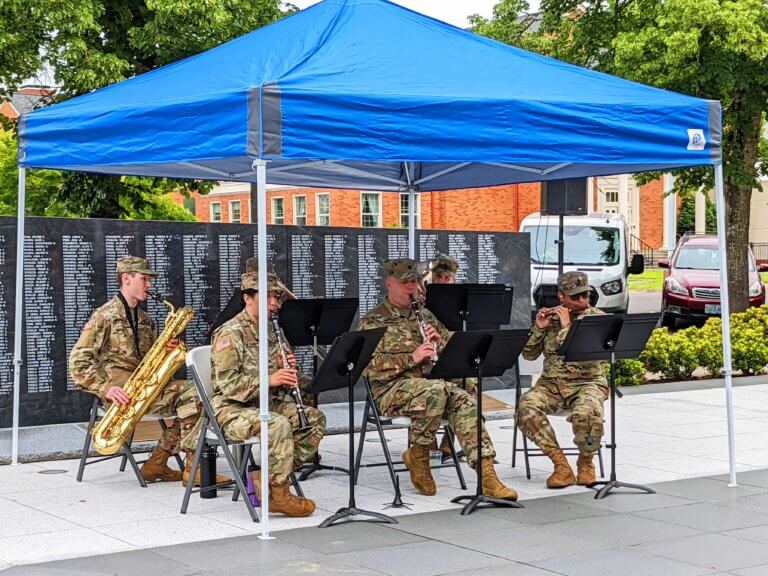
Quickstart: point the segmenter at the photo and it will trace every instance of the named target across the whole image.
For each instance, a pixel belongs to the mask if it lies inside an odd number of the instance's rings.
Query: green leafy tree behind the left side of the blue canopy
[[[0,0],[1,93],[7,97],[25,78],[50,69],[60,86],[56,98],[71,98],[208,50],[295,11],[281,6],[280,0]],[[162,213],[186,219],[188,211],[162,209],[167,200],[161,196],[173,189],[186,195],[211,187],[69,172],[60,178],[51,201],[77,216]]]

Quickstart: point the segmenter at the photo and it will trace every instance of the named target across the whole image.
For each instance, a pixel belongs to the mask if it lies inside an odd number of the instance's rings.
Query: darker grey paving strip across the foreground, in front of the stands
[[[55,562],[4,576],[259,574],[669,576],[768,574],[768,470],[740,485],[708,476],[656,483],[656,494],[579,492],[521,510],[458,509],[241,535]]]

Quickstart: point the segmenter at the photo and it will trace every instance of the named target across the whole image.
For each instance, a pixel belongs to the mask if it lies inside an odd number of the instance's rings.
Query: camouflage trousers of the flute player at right
[[[547,416],[569,410],[567,420],[573,427],[574,443],[579,452],[591,456],[603,437],[603,404],[607,398],[608,388],[603,381],[558,386],[556,381],[542,378],[521,396],[517,425],[526,437],[549,453],[560,446]]]

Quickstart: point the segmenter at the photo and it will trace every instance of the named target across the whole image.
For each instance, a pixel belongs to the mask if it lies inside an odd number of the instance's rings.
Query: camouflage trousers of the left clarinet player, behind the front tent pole
[[[299,417],[293,402],[272,403],[269,416],[269,481],[285,484],[291,472],[309,462],[325,434],[325,414],[316,408],[305,407],[310,428],[299,431]],[[261,431],[258,408],[243,408],[230,413],[222,431],[232,440],[246,440]]]

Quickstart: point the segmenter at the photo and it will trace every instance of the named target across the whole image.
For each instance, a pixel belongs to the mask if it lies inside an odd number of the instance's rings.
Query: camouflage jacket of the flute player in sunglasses
[[[587,308],[580,316],[591,316],[592,314],[604,314],[604,312],[598,308]],[[598,382],[607,386],[602,361],[565,362],[563,357],[558,354],[560,345],[565,342],[569,330],[570,327],[562,328],[560,326],[560,318],[557,316],[552,318],[549,326],[544,330],[536,326],[534,322],[528,342],[523,348],[523,358],[536,360],[544,352],[542,380],[550,380],[565,385]]]

